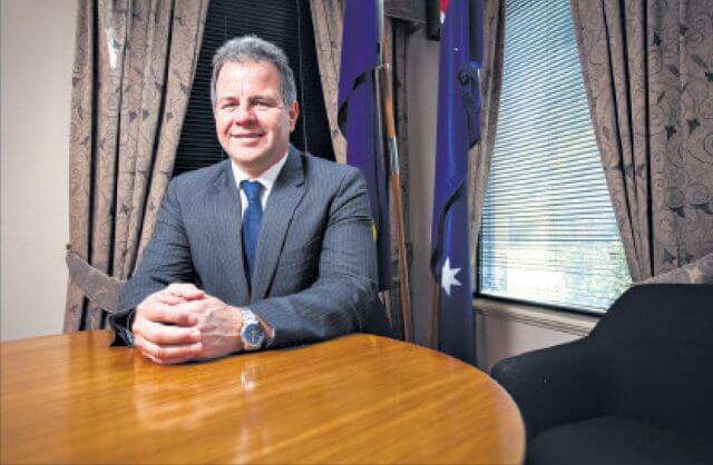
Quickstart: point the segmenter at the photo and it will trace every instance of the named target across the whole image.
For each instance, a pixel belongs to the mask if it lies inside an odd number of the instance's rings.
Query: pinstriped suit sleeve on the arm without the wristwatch
[[[121,290],[119,310],[109,316],[115,332],[113,345],[133,345],[129,328],[134,309],[147,296],[172,283],[194,283],[188,238],[183,226],[176,196],[176,180],[172,181],[162,202],[154,235],[144,250],[141,261]]]

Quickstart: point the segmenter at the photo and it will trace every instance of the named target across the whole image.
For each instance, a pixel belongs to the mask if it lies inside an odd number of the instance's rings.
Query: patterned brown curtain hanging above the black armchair
[[[713,250],[710,0],[572,0],[594,129],[634,281]]]

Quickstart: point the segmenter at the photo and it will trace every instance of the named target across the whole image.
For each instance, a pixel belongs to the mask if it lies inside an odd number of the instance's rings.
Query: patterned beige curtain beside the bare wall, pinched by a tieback
[[[207,0],[79,0],[70,136],[70,248],[126,279],[173,172]],[[69,281],[65,332],[105,326]]]

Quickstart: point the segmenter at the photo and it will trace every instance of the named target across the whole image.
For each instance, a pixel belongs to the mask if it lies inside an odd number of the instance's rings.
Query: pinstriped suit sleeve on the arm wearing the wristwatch
[[[329,210],[316,280],[300,293],[250,305],[275,327],[272,346],[364,329],[380,308],[372,225],[365,182],[361,172],[348,169]]]

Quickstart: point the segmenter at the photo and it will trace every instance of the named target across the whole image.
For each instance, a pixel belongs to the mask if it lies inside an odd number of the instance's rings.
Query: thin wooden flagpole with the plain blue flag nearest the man
[[[411,291],[409,283],[409,266],[406,249],[406,234],[403,227],[403,200],[401,196],[401,172],[399,165],[399,144],[397,140],[397,129],[393,118],[393,97],[391,68],[387,62],[383,52],[383,28],[385,22],[383,11],[383,0],[377,1],[377,11],[379,18],[379,57],[381,66],[379,67],[380,78],[375,79],[377,93],[382,102],[383,122],[387,127],[387,146],[389,147],[389,167],[391,171],[391,196],[395,210],[394,233],[397,239],[397,249],[399,255],[399,294],[401,301],[401,320],[403,324],[403,339],[413,342],[413,318],[411,316]]]

